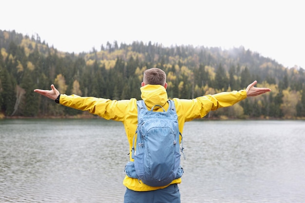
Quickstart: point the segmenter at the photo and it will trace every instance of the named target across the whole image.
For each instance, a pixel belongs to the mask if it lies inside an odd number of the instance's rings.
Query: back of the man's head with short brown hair
[[[162,85],[167,87],[166,74],[159,68],[150,68],[144,71],[142,86],[144,85]]]

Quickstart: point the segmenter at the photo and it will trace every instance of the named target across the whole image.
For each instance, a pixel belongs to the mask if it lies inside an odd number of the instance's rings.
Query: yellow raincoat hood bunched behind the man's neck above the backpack
[[[145,101],[148,108],[152,108],[152,106],[157,104],[164,106],[168,101],[166,89],[162,85],[144,85],[140,89],[141,98]]]

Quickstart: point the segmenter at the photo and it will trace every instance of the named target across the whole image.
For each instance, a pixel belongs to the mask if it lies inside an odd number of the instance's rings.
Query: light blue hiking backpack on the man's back
[[[132,158],[125,172],[148,186],[166,186],[180,178],[180,144],[175,104],[169,100],[163,112],[148,111],[143,100],[137,101],[138,125],[133,137]],[[135,141],[136,136],[136,141]],[[181,136],[182,140],[182,136]],[[136,142],[136,143],[135,143]],[[183,152],[183,146],[181,148]]]

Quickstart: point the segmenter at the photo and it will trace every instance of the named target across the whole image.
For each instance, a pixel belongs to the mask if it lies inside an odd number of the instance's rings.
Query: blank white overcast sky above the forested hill
[[[0,30],[76,53],[114,40],[244,46],[305,68],[304,8],[302,0],[1,0]]]

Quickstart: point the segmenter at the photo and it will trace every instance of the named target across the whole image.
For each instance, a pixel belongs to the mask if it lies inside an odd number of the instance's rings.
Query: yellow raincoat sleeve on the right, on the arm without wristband
[[[210,111],[218,108],[232,106],[233,104],[247,98],[246,90],[221,92],[214,95],[205,95],[192,100],[178,100],[177,110],[178,117],[182,116],[185,121],[190,121],[194,118],[203,118]],[[180,114],[180,115],[179,115]]]

